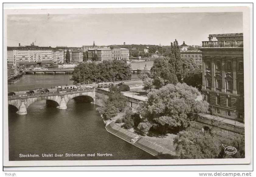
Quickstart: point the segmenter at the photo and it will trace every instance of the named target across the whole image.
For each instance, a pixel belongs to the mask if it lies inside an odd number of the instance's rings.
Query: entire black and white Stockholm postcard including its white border
[[[4,165],[250,163],[248,13],[4,10]]]

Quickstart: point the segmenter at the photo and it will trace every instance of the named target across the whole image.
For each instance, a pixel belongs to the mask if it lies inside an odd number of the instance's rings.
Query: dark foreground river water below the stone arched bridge
[[[96,105],[71,99],[68,109],[46,107],[45,100],[31,104],[26,115],[9,113],[9,160],[132,160],[155,157],[105,130]],[[64,157],[42,157],[42,154]],[[95,157],[65,157],[65,154],[93,154]],[[97,157],[97,153],[113,156]],[[20,158],[19,154],[39,154]]]

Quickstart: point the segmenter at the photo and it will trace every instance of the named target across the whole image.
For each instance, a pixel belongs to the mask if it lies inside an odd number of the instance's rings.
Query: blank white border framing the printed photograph
[[[96,13],[181,13],[181,12],[243,12],[244,19],[244,85],[250,85],[250,45],[249,45],[249,9],[247,7],[186,7],[186,8],[120,8],[120,9],[19,9],[4,10],[3,13],[3,49],[6,48],[6,15],[7,14],[96,14]],[[3,58],[7,57],[7,51],[3,50]],[[7,61],[3,60],[3,66],[7,66]],[[7,67],[3,67],[3,89],[7,90]],[[250,87],[247,87],[250,88]],[[251,119],[250,119],[250,89],[245,93],[245,151],[244,159],[175,159],[175,160],[100,160],[100,161],[9,161],[8,160],[8,118],[4,112],[3,133],[4,147],[3,160],[5,166],[79,166],[79,165],[184,165],[184,164],[247,164],[251,161]],[[7,102],[7,94],[3,95],[3,101]]]

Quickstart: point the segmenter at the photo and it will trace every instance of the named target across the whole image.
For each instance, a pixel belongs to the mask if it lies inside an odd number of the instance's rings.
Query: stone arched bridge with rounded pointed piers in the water
[[[15,106],[19,115],[27,114],[27,108],[36,101],[46,100],[48,103],[55,102],[58,109],[67,109],[67,102],[75,97],[89,97],[90,102],[95,100],[95,89],[84,88],[80,90],[70,90],[63,92],[34,93],[29,95],[8,96],[8,104]]]

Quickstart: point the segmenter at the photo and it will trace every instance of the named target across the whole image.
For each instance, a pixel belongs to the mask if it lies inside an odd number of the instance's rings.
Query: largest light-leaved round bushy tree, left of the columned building
[[[160,133],[168,130],[179,131],[187,128],[194,120],[195,113],[205,113],[209,104],[197,100],[201,93],[187,84],[167,84],[152,89],[146,102],[141,102],[139,113]]]

